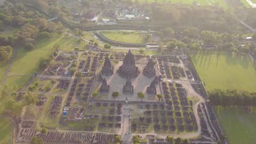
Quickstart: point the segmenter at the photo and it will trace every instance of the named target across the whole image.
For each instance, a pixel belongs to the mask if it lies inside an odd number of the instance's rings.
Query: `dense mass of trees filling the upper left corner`
[[[3,4],[0,6],[0,31],[5,27],[19,28],[13,35],[0,36],[0,61],[7,61],[16,45],[34,49],[39,39],[51,38],[54,33],[61,34],[61,22],[47,22],[46,17],[37,10],[30,10],[23,4]]]

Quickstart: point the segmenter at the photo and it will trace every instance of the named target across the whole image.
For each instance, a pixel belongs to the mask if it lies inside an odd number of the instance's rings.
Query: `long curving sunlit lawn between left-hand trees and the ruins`
[[[14,84],[18,85],[18,87],[24,86],[30,77],[16,75],[33,75],[38,70],[40,59],[50,56],[54,49],[74,50],[75,47],[85,49],[85,45],[85,43],[79,44],[77,39],[63,34],[38,41],[35,45],[37,49],[32,51],[25,51],[22,47],[19,47],[6,84],[9,86]]]

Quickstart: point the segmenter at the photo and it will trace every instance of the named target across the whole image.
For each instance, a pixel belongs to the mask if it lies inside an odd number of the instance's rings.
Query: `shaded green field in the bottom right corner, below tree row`
[[[215,107],[231,144],[255,143],[256,109],[251,109],[248,112],[242,107]]]

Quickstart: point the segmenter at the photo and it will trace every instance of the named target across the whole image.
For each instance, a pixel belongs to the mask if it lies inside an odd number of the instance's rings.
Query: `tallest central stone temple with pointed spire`
[[[138,67],[135,65],[135,58],[131,53],[131,50],[126,54],[123,65],[119,67],[118,74],[122,77],[127,78],[130,76],[131,79],[136,78],[139,73]]]

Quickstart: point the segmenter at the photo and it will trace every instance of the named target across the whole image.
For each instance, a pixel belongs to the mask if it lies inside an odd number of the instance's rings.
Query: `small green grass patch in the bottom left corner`
[[[0,143],[9,144],[11,140],[11,125],[7,119],[0,117]]]

